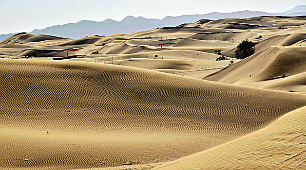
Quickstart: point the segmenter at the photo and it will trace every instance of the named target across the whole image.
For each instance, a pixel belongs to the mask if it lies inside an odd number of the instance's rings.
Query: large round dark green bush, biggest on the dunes
[[[235,52],[235,58],[247,58],[255,53],[255,45],[254,43],[252,43],[252,41],[249,41],[248,39],[244,40],[237,46],[237,50]]]

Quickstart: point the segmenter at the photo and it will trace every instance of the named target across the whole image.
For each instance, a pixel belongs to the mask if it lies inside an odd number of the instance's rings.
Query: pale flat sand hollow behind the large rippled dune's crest
[[[156,58],[155,55],[157,55]],[[85,58],[69,60],[130,66],[168,73],[187,72],[189,77],[200,78],[208,74],[206,70],[216,71],[229,66],[228,60],[216,61],[217,57],[219,55],[202,51],[168,50],[120,55],[92,54]],[[234,58],[232,60],[234,62],[240,61],[240,59]]]

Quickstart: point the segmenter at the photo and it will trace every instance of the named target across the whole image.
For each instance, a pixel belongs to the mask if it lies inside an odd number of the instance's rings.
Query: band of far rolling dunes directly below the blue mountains
[[[291,24],[291,27],[288,27],[288,23]],[[0,43],[4,45],[18,44],[19,47],[9,50],[10,48],[7,46],[0,46],[0,54],[12,58],[26,56],[31,52],[43,52],[50,56],[57,56],[56,50],[67,48],[82,48],[76,52],[82,55],[90,54],[92,51],[103,54],[132,54],[164,50],[212,52],[221,49],[223,55],[233,57],[236,45],[248,38],[255,42],[256,52],[271,46],[301,45],[306,36],[305,25],[305,16],[266,16],[245,19],[200,20],[178,27],[164,27],[133,34],[96,35],[80,39],[22,33],[13,35]],[[278,30],[279,26],[286,29]],[[263,35],[263,38],[254,39],[259,35]],[[20,44],[21,42],[23,44]],[[160,49],[158,44],[165,42],[177,44],[173,49]],[[102,47],[103,43],[106,45]],[[17,52],[15,53],[15,51]]]

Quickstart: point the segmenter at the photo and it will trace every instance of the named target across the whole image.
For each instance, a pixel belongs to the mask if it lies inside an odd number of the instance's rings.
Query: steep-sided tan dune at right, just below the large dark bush
[[[270,47],[203,79],[243,85],[299,74],[306,71],[304,53],[305,47]]]

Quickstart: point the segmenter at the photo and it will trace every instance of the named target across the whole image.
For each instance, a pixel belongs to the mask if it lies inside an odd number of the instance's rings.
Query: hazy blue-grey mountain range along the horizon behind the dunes
[[[33,30],[31,34],[48,34],[67,38],[80,38],[89,35],[123,34],[155,29],[157,27],[174,27],[183,23],[193,23],[199,19],[246,18],[258,16],[304,16],[306,5],[299,5],[282,13],[266,13],[261,11],[238,11],[231,13],[213,12],[204,15],[167,16],[163,19],[148,19],[144,17],[125,17],[122,21],[106,19],[101,22],[81,20],[76,23],[55,25],[42,30]],[[1,34],[0,41],[13,34]]]

